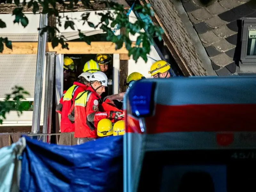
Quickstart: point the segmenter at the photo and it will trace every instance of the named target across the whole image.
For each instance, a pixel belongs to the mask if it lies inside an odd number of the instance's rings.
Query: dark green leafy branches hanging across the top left
[[[82,0],[81,1],[84,6],[90,6],[90,0]],[[12,0],[7,0],[7,3],[12,3]],[[150,45],[153,44],[153,37],[158,37],[161,39],[162,34],[164,33],[163,29],[154,26],[152,22],[148,22],[147,20],[138,19],[135,23],[131,23],[129,21],[129,15],[127,14],[129,10],[124,9],[123,5],[120,5],[116,2],[112,1],[104,1],[104,3],[109,10],[106,10],[104,13],[96,13],[101,19],[98,24],[93,24],[88,21],[90,12],[83,13],[80,19],[77,18],[69,18],[64,14],[60,14],[57,5],[60,4],[64,7],[64,9],[68,9],[73,11],[74,7],[76,7],[78,0],[71,0],[70,2],[64,2],[63,0],[30,0],[26,2],[23,0],[21,3],[20,0],[15,0],[14,3],[17,5],[17,8],[13,10],[13,15],[15,15],[14,23],[21,23],[23,27],[28,25],[28,18],[24,15],[23,8],[27,6],[28,8],[33,7],[33,13],[39,11],[39,5],[42,7],[43,14],[55,15],[57,19],[57,26],[62,26],[63,23],[61,19],[66,19],[64,22],[64,28],[71,28],[72,30],[78,31],[79,37],[82,41],[87,44],[91,44],[90,37],[85,36],[80,29],[78,29],[75,25],[74,20],[82,21],[83,25],[88,24],[92,28],[100,28],[107,33],[107,40],[116,44],[116,49],[120,49],[123,44],[125,44],[126,49],[129,51],[129,56],[133,56],[133,59],[137,61],[139,57],[142,57],[143,60],[147,61],[147,54],[150,52]],[[154,12],[151,9],[150,4],[145,5],[136,5],[134,10],[137,13],[141,13],[144,15],[153,16]],[[0,20],[0,28],[6,27],[6,24]],[[125,33],[116,35],[116,29],[124,28]],[[40,30],[40,28],[38,28]],[[144,29],[144,31],[143,31]],[[59,32],[57,27],[46,26],[41,29],[41,35],[44,32],[48,32],[48,34],[52,37],[52,47],[56,47],[61,44],[63,49],[68,49],[68,43],[64,36],[56,36],[56,32]],[[138,34],[136,45],[132,46],[132,42],[129,38],[129,33],[132,35]],[[11,44],[8,39],[0,39],[0,52],[3,52],[3,43],[7,43],[6,46],[11,49]]]

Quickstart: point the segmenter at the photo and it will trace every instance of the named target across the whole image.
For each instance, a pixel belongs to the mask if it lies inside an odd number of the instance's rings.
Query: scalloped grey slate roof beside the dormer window
[[[208,0],[209,1],[209,0]],[[237,20],[256,17],[255,0],[182,0],[204,48],[219,76],[236,73]],[[253,2],[253,3],[252,3]],[[232,74],[231,74],[232,75]]]

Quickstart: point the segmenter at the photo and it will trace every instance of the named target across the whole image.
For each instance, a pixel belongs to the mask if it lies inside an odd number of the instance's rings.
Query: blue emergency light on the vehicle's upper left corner
[[[150,116],[154,110],[155,82],[136,81],[128,92],[132,115],[137,117]]]

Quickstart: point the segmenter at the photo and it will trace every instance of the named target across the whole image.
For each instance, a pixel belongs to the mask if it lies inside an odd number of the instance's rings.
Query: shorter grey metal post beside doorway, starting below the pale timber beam
[[[52,98],[55,52],[46,53],[46,72],[45,72],[45,93],[44,93],[44,125],[43,133],[51,133],[52,128]],[[44,136],[43,141],[50,143],[50,136]]]

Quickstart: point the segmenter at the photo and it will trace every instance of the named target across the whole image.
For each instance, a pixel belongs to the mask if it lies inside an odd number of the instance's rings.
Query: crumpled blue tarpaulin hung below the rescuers
[[[123,190],[123,136],[82,145],[47,144],[26,137],[20,191]]]

